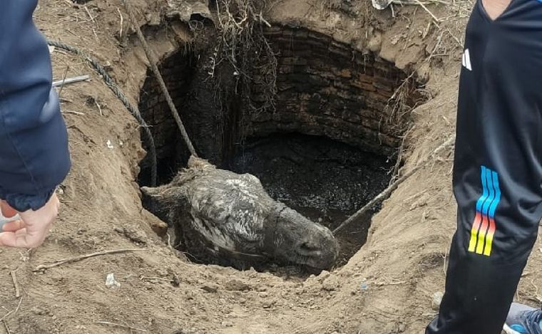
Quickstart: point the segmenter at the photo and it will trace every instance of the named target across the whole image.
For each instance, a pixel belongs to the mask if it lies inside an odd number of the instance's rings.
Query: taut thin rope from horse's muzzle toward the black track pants
[[[360,216],[368,212],[376,204],[379,204],[380,202],[384,201],[384,199],[387,199],[392,194],[392,192],[394,192],[394,190],[397,189],[397,187],[399,187],[399,184],[402,184],[403,182],[405,182],[406,179],[411,177],[415,172],[421,169],[421,167],[424,167],[427,164],[427,162],[431,160],[431,157],[438,155],[439,152],[441,152],[446,147],[451,145],[454,142],[454,139],[455,139],[455,135],[451,135],[450,137],[448,137],[448,139],[446,139],[444,143],[442,143],[442,145],[440,145],[439,147],[436,147],[436,149],[433,152],[431,152],[431,154],[429,154],[427,157],[425,157],[424,160],[421,160],[421,162],[419,162],[418,165],[412,167],[412,169],[410,169],[409,172],[406,172],[406,174],[404,174],[402,177],[397,179],[396,182],[394,182],[393,184],[390,184],[389,187],[384,189],[384,191],[378,194],[377,197],[374,197],[374,199],[372,199],[369,203],[365,204],[365,206],[362,207],[362,209],[359,209],[355,214],[353,214],[347,220],[345,220],[342,224],[340,224],[339,227],[337,227],[337,229],[334,229],[333,234],[337,234],[337,232],[341,231],[342,229],[344,229],[344,227],[348,226],[349,224],[352,224],[352,222],[359,219]]]

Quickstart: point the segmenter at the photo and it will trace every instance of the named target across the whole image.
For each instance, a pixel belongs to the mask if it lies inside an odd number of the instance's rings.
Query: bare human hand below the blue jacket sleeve
[[[0,246],[34,248],[43,244],[49,227],[56,219],[59,205],[56,194],[51,196],[44,207],[36,211],[17,212],[5,201],[1,201],[0,209],[5,217],[11,218],[19,214],[21,219],[4,225],[0,233]]]

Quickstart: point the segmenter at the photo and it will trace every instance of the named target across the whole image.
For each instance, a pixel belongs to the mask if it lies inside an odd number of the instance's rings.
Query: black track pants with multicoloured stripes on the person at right
[[[542,3],[466,30],[446,293],[426,334],[500,334],[542,217]]]

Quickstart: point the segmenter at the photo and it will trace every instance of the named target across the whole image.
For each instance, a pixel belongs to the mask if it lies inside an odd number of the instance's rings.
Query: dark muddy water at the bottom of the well
[[[271,197],[334,229],[387,187],[394,162],[326,137],[280,134],[247,140],[227,165],[254,174]],[[365,243],[371,216],[337,236],[338,265]]]

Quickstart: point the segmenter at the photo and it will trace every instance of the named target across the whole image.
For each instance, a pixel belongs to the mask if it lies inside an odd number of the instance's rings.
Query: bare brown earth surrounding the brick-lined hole
[[[165,1],[131,3],[140,25],[154,26],[145,31],[152,31],[157,55],[190,40],[181,22],[160,26]],[[432,98],[413,112],[404,173],[454,132],[459,42],[471,6],[429,5],[438,26],[420,6],[395,6],[393,18],[389,9],[377,12],[370,1],[357,0],[277,1],[265,16],[272,24],[332,34],[429,78]],[[98,58],[137,104],[146,59],[121,1],[41,1],[36,24],[48,38]],[[61,186],[58,222],[39,249],[0,249],[0,333],[423,333],[436,315],[431,300],[444,290],[455,226],[451,147],[384,202],[367,244],[342,268],[301,281],[195,265],[155,234],[151,226],[160,221],[141,207],[136,177],[144,152],[136,121],[86,61],[58,49],[52,59],[57,80],[66,69],[68,77],[90,74],[91,80],[61,92],[73,169]],[[112,249],[140,251],[34,272],[48,261]],[[542,301],[535,269],[541,262],[537,244],[519,301]],[[120,288],[106,287],[109,273]]]

